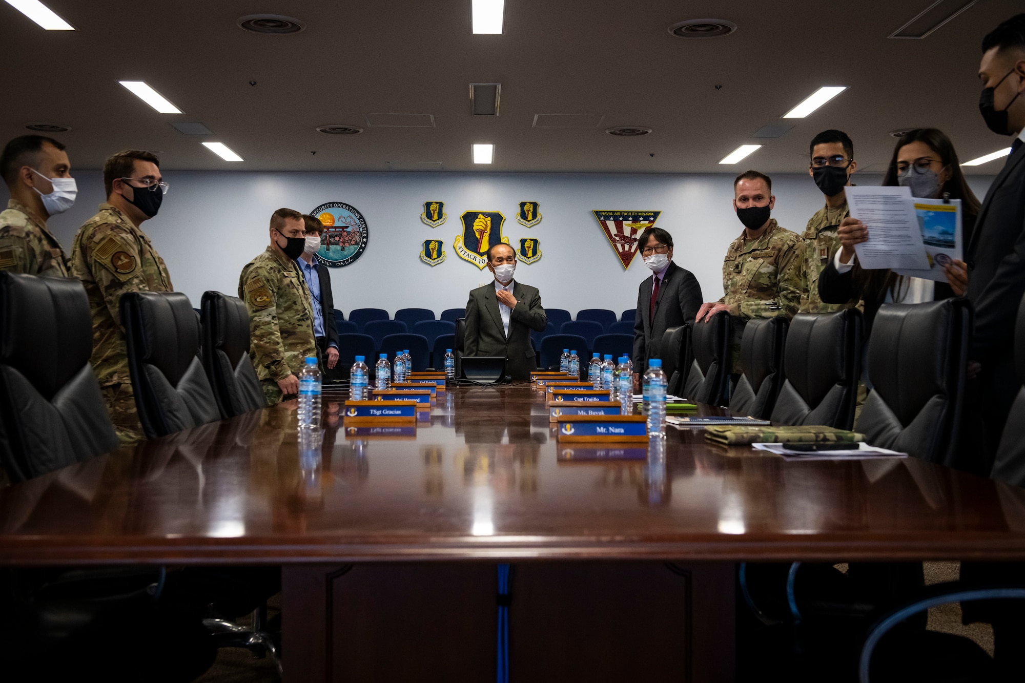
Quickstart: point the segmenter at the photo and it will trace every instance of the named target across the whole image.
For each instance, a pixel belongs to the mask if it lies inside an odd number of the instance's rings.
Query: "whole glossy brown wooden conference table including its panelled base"
[[[570,444],[529,384],[342,403],[319,447],[282,404],[6,488],[0,563],[280,564],[286,681],[493,680],[506,638],[533,682],[733,680],[738,562],[1025,559],[1025,490],[915,458]]]

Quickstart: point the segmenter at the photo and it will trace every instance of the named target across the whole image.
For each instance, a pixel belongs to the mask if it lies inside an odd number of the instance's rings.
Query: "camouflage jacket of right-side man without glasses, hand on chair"
[[[735,239],[723,262],[723,291],[719,299],[731,314],[745,320],[792,318],[801,304],[804,245],[796,233],[773,218],[758,239],[747,242],[745,233]]]

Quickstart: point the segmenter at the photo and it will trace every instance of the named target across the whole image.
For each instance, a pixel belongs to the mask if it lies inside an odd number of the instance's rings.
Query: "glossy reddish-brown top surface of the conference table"
[[[1025,559],[1025,490],[913,458],[785,461],[671,427],[560,444],[529,385],[440,394],[394,436],[339,409],[304,453],[283,405],[4,489],[0,564]]]

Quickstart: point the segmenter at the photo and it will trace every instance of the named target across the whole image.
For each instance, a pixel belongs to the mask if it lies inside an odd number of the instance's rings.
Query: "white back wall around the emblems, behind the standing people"
[[[69,252],[78,227],[102,201],[98,171],[75,176],[78,202],[50,222]],[[694,273],[706,300],[722,296],[723,255],[742,229],[731,206],[732,174],[167,171],[164,177],[170,192],[160,214],[142,227],[167,262],[175,289],[197,307],[207,289],[237,294],[239,273],[268,245],[271,213],[281,206],[306,212],[342,201],[366,218],[366,251],[355,264],[331,272],[335,306],[346,317],[364,307],[392,313],[417,307],[440,314],[465,306],[467,291],[490,278],[452,247],[464,210],[501,211],[506,217],[502,233],[514,245],[521,237],[539,239],[543,256],[530,266],[519,264],[517,279],[539,287],[544,306],[574,316],[585,308],[634,308],[638,284],[650,275],[640,255],[623,271],[592,209],[662,211],[657,225],[673,236],[674,260]],[[880,177],[859,175],[858,180],[875,185]],[[991,180],[971,178],[980,198]],[[773,192],[773,215],[795,232],[823,203],[804,174],[776,175]],[[447,223],[433,229],[420,222],[426,200],[445,202]],[[516,222],[521,201],[540,203],[538,226],[528,229]],[[444,240],[448,257],[432,268],[419,252],[423,240],[435,238]]]

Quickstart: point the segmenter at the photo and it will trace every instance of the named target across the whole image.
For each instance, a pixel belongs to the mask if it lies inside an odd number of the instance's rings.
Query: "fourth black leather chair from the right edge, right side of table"
[[[783,349],[788,324],[785,318],[749,320],[740,342],[743,372],[730,396],[730,414],[768,419],[786,377]]]

